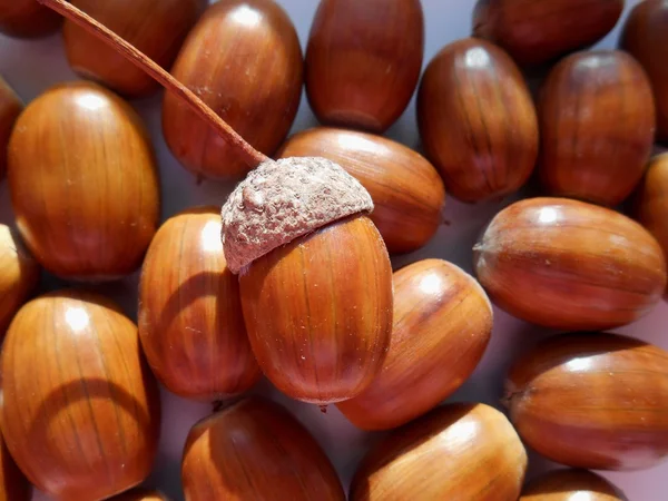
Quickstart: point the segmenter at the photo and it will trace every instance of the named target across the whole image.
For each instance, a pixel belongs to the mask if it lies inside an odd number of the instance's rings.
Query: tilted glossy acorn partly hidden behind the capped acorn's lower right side
[[[394,273],[394,326],[382,372],[338,410],[363,430],[412,421],[456,391],[482,358],[492,305],[458,266],[424,259]]]

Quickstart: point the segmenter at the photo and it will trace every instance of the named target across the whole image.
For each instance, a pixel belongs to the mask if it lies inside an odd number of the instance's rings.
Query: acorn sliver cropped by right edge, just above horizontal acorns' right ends
[[[635,216],[657,239],[668,257],[668,154],[654,157],[638,186]]]

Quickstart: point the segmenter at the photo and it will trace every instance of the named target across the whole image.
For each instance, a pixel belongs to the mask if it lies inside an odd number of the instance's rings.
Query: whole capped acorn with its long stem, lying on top
[[[112,43],[180,96],[253,171],[223,206],[223,249],[239,274],[261,369],[293,399],[321,405],[361,393],[392,328],[392,267],[369,218],[369,191],[325,158],[271,160],[135,47],[66,0],[40,0]]]

